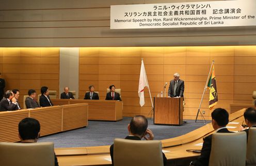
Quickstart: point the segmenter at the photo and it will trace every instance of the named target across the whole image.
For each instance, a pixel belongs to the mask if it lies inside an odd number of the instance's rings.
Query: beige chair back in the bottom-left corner
[[[1,165],[54,166],[53,142],[0,142]]]

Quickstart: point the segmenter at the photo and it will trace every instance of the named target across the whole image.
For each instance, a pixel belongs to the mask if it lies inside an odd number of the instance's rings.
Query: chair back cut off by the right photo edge
[[[247,152],[246,152],[246,165],[256,166],[256,127],[249,129]]]

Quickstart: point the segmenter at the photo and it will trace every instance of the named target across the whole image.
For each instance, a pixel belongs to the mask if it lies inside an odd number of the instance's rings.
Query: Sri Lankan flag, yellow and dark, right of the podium
[[[214,64],[210,73],[211,75],[210,75],[207,87],[210,89],[209,108],[212,109],[218,102],[218,93],[217,93],[217,87],[216,87]]]

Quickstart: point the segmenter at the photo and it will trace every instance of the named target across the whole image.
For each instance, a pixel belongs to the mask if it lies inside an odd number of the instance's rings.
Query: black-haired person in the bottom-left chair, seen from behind
[[[36,143],[40,137],[40,123],[34,118],[25,118],[19,123],[19,137],[21,143]],[[54,153],[55,166],[58,166],[58,160]]]

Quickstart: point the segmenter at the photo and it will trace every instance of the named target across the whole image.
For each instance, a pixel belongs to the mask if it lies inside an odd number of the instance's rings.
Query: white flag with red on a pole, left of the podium
[[[141,68],[140,68],[140,76],[139,76],[139,104],[142,107],[145,104],[145,99],[144,99],[144,89],[145,87],[149,87],[145,67],[143,60],[141,60]]]

